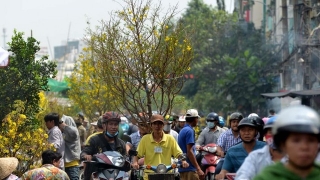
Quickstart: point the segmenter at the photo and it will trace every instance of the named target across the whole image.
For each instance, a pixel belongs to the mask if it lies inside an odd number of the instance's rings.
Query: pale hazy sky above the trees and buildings
[[[203,0],[212,6],[216,0]],[[63,41],[81,39],[90,20],[91,26],[101,19],[109,19],[109,12],[120,9],[121,0],[2,0],[0,11],[0,46],[4,45],[3,28],[6,28],[6,42],[11,40],[13,30],[31,34],[40,41],[40,46],[61,45]],[[157,2],[157,0],[155,0]],[[178,4],[183,12],[188,0],[162,0],[164,9]],[[226,0],[228,11],[233,0]],[[68,37],[68,29],[70,33]]]

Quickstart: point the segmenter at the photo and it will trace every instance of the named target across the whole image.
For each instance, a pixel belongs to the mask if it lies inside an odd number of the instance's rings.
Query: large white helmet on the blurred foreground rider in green
[[[280,111],[277,121],[274,122],[272,134],[279,132],[320,133],[320,117],[310,107],[303,105],[289,106]]]

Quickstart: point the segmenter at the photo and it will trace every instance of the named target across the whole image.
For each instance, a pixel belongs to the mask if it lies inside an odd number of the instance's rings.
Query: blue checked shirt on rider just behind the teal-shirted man
[[[227,152],[231,146],[238,144],[239,142],[242,142],[240,136],[238,135],[237,138],[234,138],[232,130],[228,129],[220,135],[218,139],[218,146],[220,146],[224,152]]]

